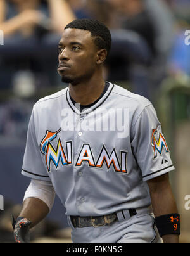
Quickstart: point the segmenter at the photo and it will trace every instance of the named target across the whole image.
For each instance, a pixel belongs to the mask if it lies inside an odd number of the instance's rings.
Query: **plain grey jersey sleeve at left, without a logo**
[[[39,145],[36,139],[35,113],[32,111],[28,125],[27,143],[23,157],[22,174],[32,179],[50,181],[44,163],[42,162]]]

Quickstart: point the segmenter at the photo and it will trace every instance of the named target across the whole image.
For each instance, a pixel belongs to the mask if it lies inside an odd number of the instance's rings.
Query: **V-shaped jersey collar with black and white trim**
[[[111,84],[111,82],[108,82],[108,83],[109,83],[109,87],[106,93],[103,95],[103,97],[101,97],[99,101],[96,102],[96,104],[92,105],[91,108],[84,109],[82,112],[80,112],[80,104],[73,105],[73,102],[70,99],[70,95],[69,95],[69,87],[66,91],[66,101],[68,102],[68,105],[70,106],[70,108],[72,108],[73,112],[77,113],[78,115],[83,115],[83,114],[85,115],[89,112],[96,110],[96,108],[99,108],[99,106],[101,106],[106,101],[106,99],[110,96],[111,91],[113,90],[114,84]]]

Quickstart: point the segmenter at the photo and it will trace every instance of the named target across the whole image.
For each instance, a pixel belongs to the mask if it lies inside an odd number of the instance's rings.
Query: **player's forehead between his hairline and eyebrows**
[[[66,29],[63,31],[59,44],[70,44],[73,42],[79,42],[80,44],[89,45],[93,44],[94,40],[91,36],[91,32],[82,29]]]

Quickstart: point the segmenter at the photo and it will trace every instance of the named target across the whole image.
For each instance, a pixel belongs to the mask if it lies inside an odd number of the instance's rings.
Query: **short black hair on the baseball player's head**
[[[82,18],[68,23],[65,29],[82,29],[91,32],[96,46],[98,46],[99,49],[106,49],[108,54],[110,53],[111,33],[104,23],[98,20]]]

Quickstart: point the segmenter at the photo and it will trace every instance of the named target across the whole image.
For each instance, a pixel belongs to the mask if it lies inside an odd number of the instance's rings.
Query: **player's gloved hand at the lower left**
[[[30,243],[30,225],[32,222],[23,217],[18,217],[15,220],[13,215],[11,218],[16,243]]]

